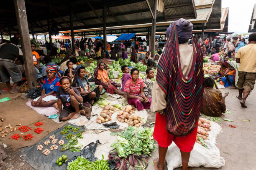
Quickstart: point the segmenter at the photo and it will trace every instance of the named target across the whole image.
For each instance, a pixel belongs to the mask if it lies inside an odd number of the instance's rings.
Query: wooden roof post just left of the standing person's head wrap
[[[154,0],[153,4],[153,14],[154,18],[152,18],[152,28],[151,28],[151,37],[150,37],[150,44],[151,44],[151,57],[155,56],[155,39],[156,39],[156,1]]]

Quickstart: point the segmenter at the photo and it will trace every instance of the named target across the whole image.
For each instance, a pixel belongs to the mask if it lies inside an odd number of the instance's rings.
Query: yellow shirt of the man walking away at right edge
[[[256,72],[256,44],[248,44],[239,48],[236,58],[240,58],[238,71]]]

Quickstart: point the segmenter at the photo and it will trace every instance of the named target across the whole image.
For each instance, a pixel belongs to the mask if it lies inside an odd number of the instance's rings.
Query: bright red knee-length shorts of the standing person
[[[168,148],[168,146],[172,144],[172,141],[174,141],[181,151],[191,152],[194,148],[197,137],[197,127],[187,136],[174,136],[166,130],[166,123],[166,116],[156,113],[153,137],[157,141],[158,145],[162,148]]]

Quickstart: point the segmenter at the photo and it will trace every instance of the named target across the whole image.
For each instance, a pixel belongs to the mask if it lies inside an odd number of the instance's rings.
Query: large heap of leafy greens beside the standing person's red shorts
[[[154,127],[135,128],[130,126],[120,133],[111,133],[110,135],[118,135],[117,142],[113,143],[111,147],[118,151],[118,156],[124,158],[133,153],[151,156],[151,151],[155,150],[153,131]]]

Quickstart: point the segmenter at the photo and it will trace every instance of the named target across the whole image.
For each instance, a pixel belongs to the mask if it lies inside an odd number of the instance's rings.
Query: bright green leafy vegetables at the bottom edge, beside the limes
[[[73,160],[67,165],[67,170],[110,170],[108,160],[103,159],[104,156],[102,155],[102,160],[90,162],[82,156],[79,156],[76,160]]]

